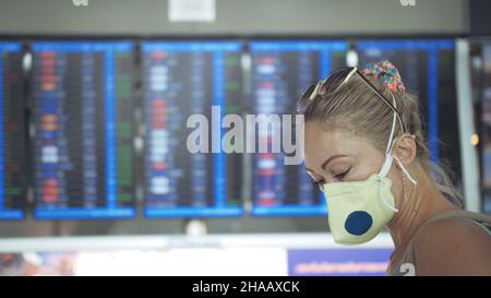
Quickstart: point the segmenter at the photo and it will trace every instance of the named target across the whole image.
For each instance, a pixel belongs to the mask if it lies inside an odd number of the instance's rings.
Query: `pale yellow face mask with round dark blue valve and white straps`
[[[393,102],[395,106],[394,97]],[[373,174],[364,181],[333,182],[323,186],[331,233],[337,243],[359,245],[370,241],[398,212],[391,192],[392,181],[386,178],[394,158],[409,180],[417,184],[403,163],[392,156],[395,124],[396,114],[394,112],[385,160],[378,174]]]

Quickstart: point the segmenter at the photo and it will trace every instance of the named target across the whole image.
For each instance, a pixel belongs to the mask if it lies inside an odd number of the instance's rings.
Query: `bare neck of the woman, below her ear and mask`
[[[411,172],[415,174],[418,184],[407,184],[404,189],[406,194],[403,192],[398,200],[398,212],[387,224],[395,251],[405,251],[407,245],[424,222],[436,214],[456,208],[442,195],[419,165]]]

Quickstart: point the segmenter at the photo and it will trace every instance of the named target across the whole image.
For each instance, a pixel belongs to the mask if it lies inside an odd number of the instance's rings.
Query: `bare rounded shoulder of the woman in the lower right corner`
[[[418,275],[491,275],[491,237],[462,218],[426,226],[415,242]]]

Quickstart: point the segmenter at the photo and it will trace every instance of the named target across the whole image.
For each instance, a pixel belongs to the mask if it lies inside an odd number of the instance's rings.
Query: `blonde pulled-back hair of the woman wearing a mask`
[[[319,95],[312,100],[304,100],[300,107],[304,121],[316,121],[326,128],[344,129],[354,135],[371,140],[374,146],[385,152],[391,133],[394,112],[373,90],[357,74],[344,85],[349,70],[335,72],[322,85]],[[452,203],[462,207],[463,200],[456,191],[447,172],[446,166],[435,164],[430,159],[430,151],[424,140],[424,128],[421,119],[418,97],[407,92],[392,92],[385,85],[372,84],[385,96],[396,100],[397,111],[406,127],[406,132],[414,134],[416,140],[416,158],[435,183],[438,190]],[[340,86],[340,87],[339,87]],[[394,135],[403,133],[397,124]]]

